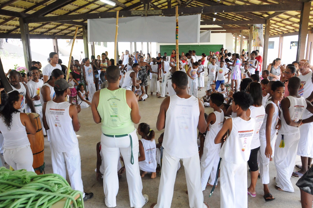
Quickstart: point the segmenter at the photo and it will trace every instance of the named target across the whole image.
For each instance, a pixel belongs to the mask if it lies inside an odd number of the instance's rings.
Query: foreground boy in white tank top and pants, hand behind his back
[[[212,96],[212,95],[211,95]],[[232,110],[237,117],[228,118],[216,135],[216,144],[225,141],[219,156],[222,158],[220,173],[221,208],[247,208],[247,161],[254,135],[255,120],[247,117],[246,111],[253,99],[244,91],[233,94]]]

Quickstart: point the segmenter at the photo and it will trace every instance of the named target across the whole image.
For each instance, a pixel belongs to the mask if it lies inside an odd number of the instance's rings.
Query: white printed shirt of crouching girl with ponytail
[[[156,172],[156,143],[154,140],[148,141],[141,139],[143,149],[145,150],[144,161],[139,162],[139,169],[147,172]]]

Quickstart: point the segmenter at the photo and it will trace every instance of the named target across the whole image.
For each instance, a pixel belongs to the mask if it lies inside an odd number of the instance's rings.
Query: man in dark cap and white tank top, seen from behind
[[[84,192],[81,179],[80,151],[75,134],[80,129],[77,115],[80,106],[65,101],[70,85],[64,79],[54,82],[56,97],[44,103],[43,122],[45,129],[50,129],[53,173],[66,178],[67,170],[72,189],[83,192],[85,201],[92,198],[93,193]]]

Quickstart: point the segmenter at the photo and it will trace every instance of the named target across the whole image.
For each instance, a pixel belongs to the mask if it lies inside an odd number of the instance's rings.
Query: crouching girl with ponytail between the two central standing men
[[[141,136],[139,140],[139,169],[141,170],[141,178],[151,172],[151,178],[156,177],[156,143],[154,141],[154,131],[149,124],[140,123],[138,125],[138,134]]]

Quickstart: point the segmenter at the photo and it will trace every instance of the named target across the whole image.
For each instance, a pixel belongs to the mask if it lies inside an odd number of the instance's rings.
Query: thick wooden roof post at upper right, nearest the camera
[[[298,36],[298,49],[296,60],[300,61],[304,59],[305,42],[308,34],[309,18],[311,2],[303,2],[303,9],[301,10],[300,22],[299,22],[299,36]]]

